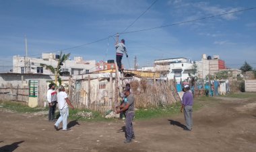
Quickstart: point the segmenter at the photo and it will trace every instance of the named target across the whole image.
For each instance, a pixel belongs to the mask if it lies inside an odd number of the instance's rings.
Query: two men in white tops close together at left
[[[62,130],[70,130],[67,128],[67,118],[69,117],[69,106],[70,108],[74,108],[69,98],[67,97],[67,93],[65,92],[65,87],[63,85],[59,86],[59,92],[55,90],[55,84],[51,83],[49,85],[49,90],[46,94],[47,101],[49,102],[49,121],[55,122],[55,110],[57,104],[59,105],[59,118],[54,124],[54,128],[59,130],[59,124],[63,122]]]

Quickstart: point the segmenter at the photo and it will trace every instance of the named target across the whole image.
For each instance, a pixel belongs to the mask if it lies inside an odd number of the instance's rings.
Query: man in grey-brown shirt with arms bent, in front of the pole
[[[117,111],[117,114],[120,112],[125,112],[125,132],[126,132],[126,140],[124,143],[131,143],[131,139],[135,139],[134,131],[133,131],[133,117],[135,115],[134,112],[134,96],[133,93],[130,92],[130,87],[125,87],[123,90],[125,97],[127,98],[126,104],[122,104],[117,108],[121,108],[121,110]]]

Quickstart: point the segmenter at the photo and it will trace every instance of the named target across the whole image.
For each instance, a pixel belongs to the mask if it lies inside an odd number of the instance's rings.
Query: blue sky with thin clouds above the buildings
[[[84,60],[115,59],[115,43],[107,38],[123,32],[155,0],[11,0],[0,1],[0,69],[11,56],[63,50]],[[256,7],[253,0],[158,0],[126,32],[165,26],[201,17]],[[256,9],[166,28],[121,34],[129,54],[125,67],[152,65],[154,59],[219,54],[228,67],[245,61],[256,68]],[[100,42],[88,44],[106,38]],[[74,46],[86,46],[72,48]],[[67,49],[71,48],[71,49]],[[2,68],[3,69],[3,68]],[[0,70],[1,71],[1,70]]]

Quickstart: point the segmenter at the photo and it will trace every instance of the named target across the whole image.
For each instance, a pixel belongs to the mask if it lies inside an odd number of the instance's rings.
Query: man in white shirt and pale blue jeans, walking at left
[[[58,104],[59,104],[59,113],[60,117],[58,118],[57,122],[54,125],[54,128],[58,130],[59,124],[62,122],[62,129],[63,130],[70,130],[67,128],[67,118],[69,117],[69,106],[74,109],[73,105],[67,98],[67,93],[65,93],[65,87],[63,85],[59,86],[59,93],[57,94]]]

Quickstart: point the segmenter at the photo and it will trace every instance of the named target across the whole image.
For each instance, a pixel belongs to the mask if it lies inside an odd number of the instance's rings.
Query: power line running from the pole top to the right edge
[[[251,9],[256,9],[256,7],[251,7],[251,8],[248,8],[248,9],[241,9],[241,10],[238,10],[238,11],[230,11],[228,13],[221,13],[221,14],[218,14],[218,15],[202,17],[202,18],[195,19],[195,20],[179,22],[179,23],[176,23],[176,24],[169,24],[169,25],[166,25],[166,26],[158,26],[158,27],[155,27],[155,28],[146,28],[146,29],[142,29],[142,30],[134,30],[134,31],[130,31],[130,32],[123,32],[123,33],[120,33],[120,34],[129,34],[129,33],[135,33],[135,32],[143,32],[143,31],[148,31],[148,30],[155,30],[155,29],[158,29],[158,28],[166,28],[166,27],[169,27],[169,26],[177,26],[179,24],[187,24],[189,22],[195,22],[195,21],[199,21],[199,20],[206,20],[206,19],[213,18],[213,17],[219,17],[219,16],[222,16],[222,15],[228,15],[230,13],[238,13],[238,12],[241,12],[241,11],[248,11],[248,10],[251,10]]]

